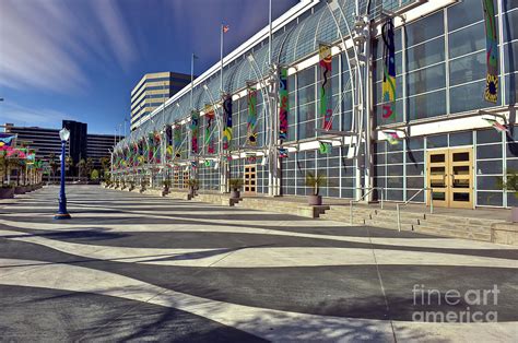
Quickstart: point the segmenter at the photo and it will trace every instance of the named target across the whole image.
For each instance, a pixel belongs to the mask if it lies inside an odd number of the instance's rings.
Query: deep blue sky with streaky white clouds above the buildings
[[[280,16],[297,0],[273,0]],[[0,125],[116,133],[143,74],[196,74],[268,25],[268,0],[0,0]],[[119,134],[123,129],[119,129]]]

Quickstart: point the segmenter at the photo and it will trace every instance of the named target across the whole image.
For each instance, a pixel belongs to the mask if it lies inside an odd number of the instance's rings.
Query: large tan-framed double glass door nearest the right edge
[[[427,153],[427,187],[434,206],[473,208],[473,150],[447,149]]]

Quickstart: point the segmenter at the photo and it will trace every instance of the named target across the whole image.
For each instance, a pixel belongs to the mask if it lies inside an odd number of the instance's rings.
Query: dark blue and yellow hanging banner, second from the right
[[[382,118],[389,119],[396,113],[396,46],[392,19],[381,27],[384,39],[384,82],[381,84]]]

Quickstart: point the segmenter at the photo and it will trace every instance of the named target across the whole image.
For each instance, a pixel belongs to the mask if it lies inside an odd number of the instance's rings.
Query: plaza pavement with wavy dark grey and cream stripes
[[[516,247],[71,186],[0,202],[0,342],[516,342]]]

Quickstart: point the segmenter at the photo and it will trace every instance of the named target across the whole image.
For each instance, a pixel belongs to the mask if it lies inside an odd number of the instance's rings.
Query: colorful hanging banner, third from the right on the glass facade
[[[323,129],[332,129],[332,90],[331,90],[331,66],[332,56],[331,47],[320,44],[318,47],[318,55],[320,57],[320,106],[319,117],[323,118]]]

